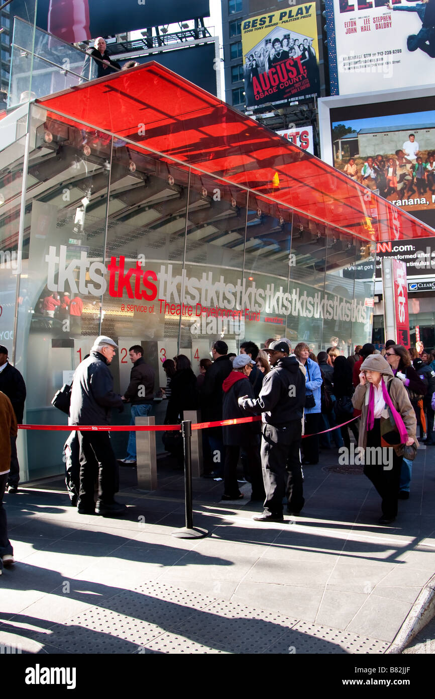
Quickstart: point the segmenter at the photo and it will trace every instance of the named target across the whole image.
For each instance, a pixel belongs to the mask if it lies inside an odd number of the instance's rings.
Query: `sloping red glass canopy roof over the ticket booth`
[[[435,235],[430,226],[155,62],[37,102],[53,117],[128,138],[360,238]]]

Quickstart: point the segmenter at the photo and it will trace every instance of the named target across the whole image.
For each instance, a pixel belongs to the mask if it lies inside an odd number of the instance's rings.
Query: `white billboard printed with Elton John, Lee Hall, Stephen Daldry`
[[[384,92],[431,82],[433,0],[325,0],[325,6],[331,94]]]

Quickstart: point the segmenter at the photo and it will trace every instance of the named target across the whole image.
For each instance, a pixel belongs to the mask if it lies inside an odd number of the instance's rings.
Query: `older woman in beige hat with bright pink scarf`
[[[413,406],[381,354],[362,362],[352,403],[361,410],[358,447],[364,449],[364,474],[382,498],[379,524],[391,524],[397,516],[403,456],[414,458],[418,447]]]

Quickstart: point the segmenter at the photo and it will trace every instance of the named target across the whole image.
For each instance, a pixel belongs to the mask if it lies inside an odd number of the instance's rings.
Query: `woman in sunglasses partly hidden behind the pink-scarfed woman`
[[[415,412],[415,419],[420,422],[420,408],[418,401],[427,393],[427,385],[420,379],[418,373],[411,364],[411,354],[403,345],[392,345],[385,353],[385,359],[392,368],[392,373],[404,384],[408,391],[409,400]],[[401,466],[399,487],[400,500],[408,500],[411,488],[412,460],[404,457]]]

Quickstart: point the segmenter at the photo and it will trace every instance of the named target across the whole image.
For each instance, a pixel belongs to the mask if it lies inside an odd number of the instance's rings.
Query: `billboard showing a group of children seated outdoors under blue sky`
[[[322,158],[435,227],[435,97],[407,94],[321,99]]]

